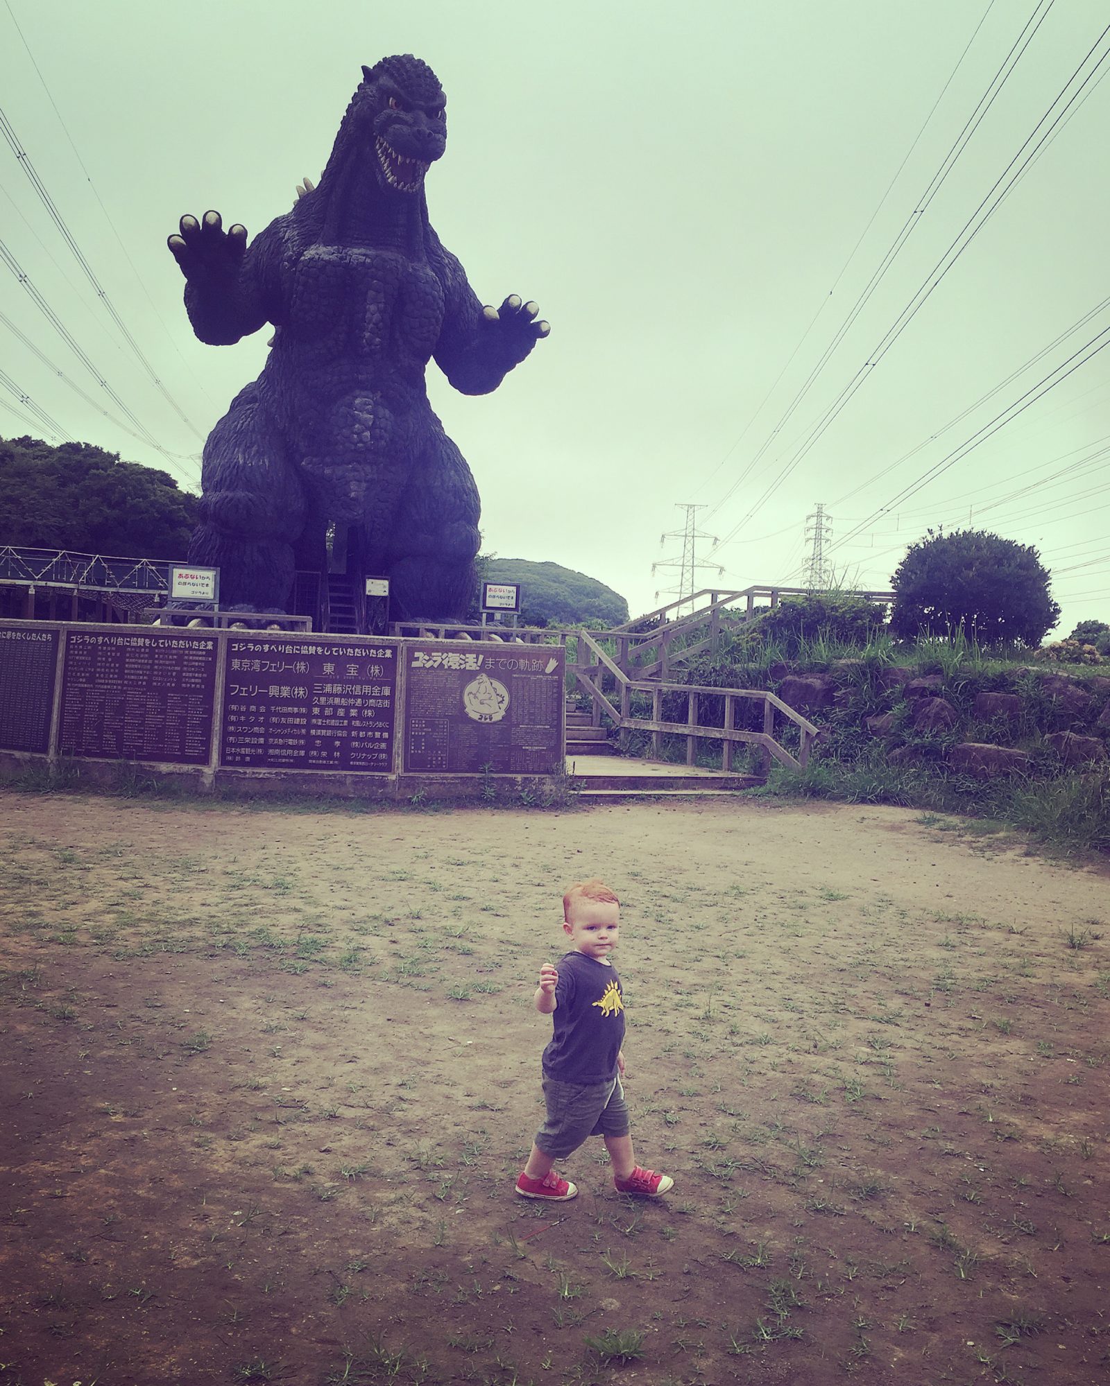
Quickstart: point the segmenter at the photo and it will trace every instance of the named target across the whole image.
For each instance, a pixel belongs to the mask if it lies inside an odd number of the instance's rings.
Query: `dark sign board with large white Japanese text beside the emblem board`
[[[221,764],[393,769],[397,642],[229,639]]]

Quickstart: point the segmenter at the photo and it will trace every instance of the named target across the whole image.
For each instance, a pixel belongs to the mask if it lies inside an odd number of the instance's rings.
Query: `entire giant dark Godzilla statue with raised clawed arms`
[[[495,389],[549,328],[516,295],[483,308],[427,219],[425,175],[445,98],[411,54],[362,68],[319,183],[247,244],[218,212],[183,216],[169,249],[197,337],[276,328],[262,374],[204,446],[191,563],[219,567],[226,606],[287,610],[294,571],[390,578],[393,620],[459,618],[479,496],[432,412],[430,358],[468,395]]]

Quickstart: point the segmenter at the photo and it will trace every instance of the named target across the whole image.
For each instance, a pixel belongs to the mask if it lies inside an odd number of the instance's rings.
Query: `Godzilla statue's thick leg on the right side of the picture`
[[[466,615],[480,542],[479,514],[477,488],[466,459],[433,416],[390,546],[394,621],[458,621]]]

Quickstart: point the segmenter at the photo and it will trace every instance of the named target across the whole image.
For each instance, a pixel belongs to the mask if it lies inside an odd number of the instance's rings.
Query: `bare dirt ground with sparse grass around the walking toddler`
[[[0,1386],[1110,1375],[1110,880],[902,809],[0,794]],[[512,1193],[559,895],[627,1092]]]

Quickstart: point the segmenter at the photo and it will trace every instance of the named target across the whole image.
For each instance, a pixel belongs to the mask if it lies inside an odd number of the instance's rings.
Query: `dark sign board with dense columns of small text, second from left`
[[[212,748],[216,640],[130,626],[68,629],[62,755],[204,765]]]

